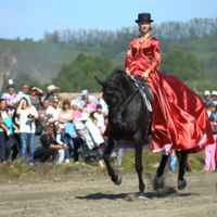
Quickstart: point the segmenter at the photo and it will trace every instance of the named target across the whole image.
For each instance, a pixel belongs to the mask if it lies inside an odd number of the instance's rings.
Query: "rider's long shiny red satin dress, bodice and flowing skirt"
[[[157,71],[159,63],[156,38],[149,36],[143,41],[140,38],[130,41],[126,68],[138,75],[148,68],[152,71],[146,79],[153,98],[151,149],[163,153],[169,153],[170,149],[195,153],[213,144],[213,131],[200,95],[177,78]]]

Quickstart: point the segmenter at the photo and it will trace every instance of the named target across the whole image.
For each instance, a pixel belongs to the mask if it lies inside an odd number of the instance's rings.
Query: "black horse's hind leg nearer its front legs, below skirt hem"
[[[169,157],[169,154],[168,155],[162,155],[162,161],[161,161],[159,167],[156,171],[156,177],[154,179],[154,190],[164,188],[163,175],[164,175],[164,169],[165,169],[168,157]]]

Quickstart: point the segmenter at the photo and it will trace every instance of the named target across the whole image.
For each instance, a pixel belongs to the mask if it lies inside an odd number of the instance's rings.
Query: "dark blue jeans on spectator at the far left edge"
[[[0,163],[5,162],[11,155],[11,137],[5,131],[0,131]]]

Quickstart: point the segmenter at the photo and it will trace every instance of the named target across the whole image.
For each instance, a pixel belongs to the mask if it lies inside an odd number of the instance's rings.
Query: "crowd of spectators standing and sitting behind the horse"
[[[102,92],[97,98],[82,90],[72,101],[61,102],[55,95],[58,89],[51,85],[43,92],[23,84],[15,91],[13,81],[9,80],[8,92],[0,99],[0,164],[9,158],[21,158],[22,164],[29,165],[48,161],[56,164],[93,161],[104,167],[101,158],[107,141],[104,132],[108,110]],[[203,102],[216,142],[217,91],[206,90]],[[204,169],[215,170],[216,143],[206,146],[204,153]],[[122,164],[123,154],[124,149],[113,152],[117,165]]]

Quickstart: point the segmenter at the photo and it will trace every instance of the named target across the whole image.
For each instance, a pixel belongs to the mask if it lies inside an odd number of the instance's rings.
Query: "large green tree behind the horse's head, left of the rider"
[[[94,76],[103,80],[113,69],[110,59],[80,53],[71,64],[62,66],[53,84],[64,91],[98,90]]]

